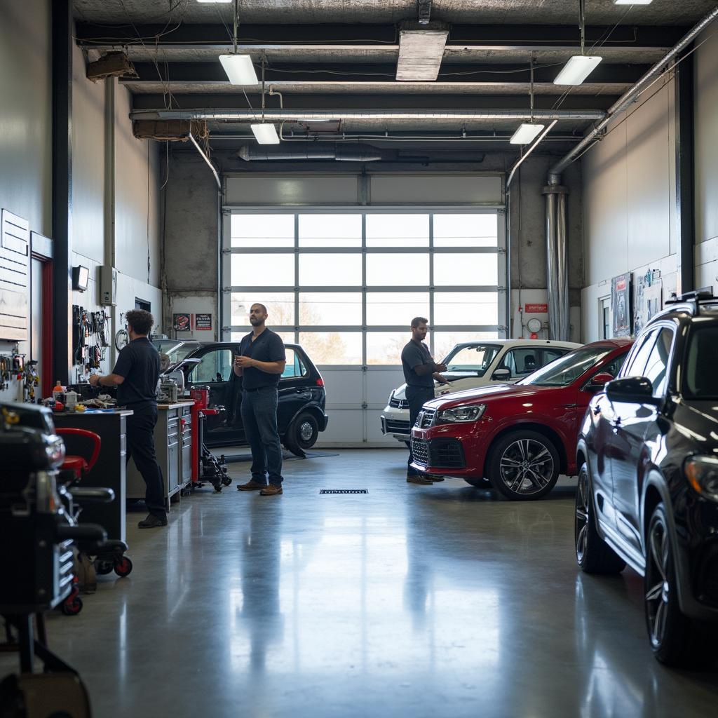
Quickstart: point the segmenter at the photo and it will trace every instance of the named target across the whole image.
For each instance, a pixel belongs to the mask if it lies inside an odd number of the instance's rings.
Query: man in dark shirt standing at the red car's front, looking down
[[[401,366],[404,369],[406,381],[406,401],[409,402],[409,434],[411,427],[426,401],[434,398],[434,379],[442,384],[449,382],[439,372],[446,371],[445,364],[437,364],[424,344],[427,320],[424,317],[414,317],[411,320],[411,341],[401,351]],[[411,453],[411,439],[409,440],[409,467],[406,470],[406,480],[413,484],[431,484],[434,481],[443,481],[443,476],[422,474],[417,471],[411,462],[414,456]]]

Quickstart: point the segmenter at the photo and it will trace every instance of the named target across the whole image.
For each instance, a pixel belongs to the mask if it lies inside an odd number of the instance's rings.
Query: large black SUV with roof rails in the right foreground
[[[653,653],[680,666],[718,621],[718,299],[667,304],[589,404],[575,542],[587,573],[643,575]]]

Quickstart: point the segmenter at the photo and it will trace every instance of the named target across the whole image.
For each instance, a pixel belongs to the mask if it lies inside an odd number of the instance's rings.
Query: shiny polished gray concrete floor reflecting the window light
[[[409,485],[401,450],[339,454],[286,462],[279,497],[197,493],[166,530],[129,516],[131,577],[49,624],[96,717],[718,713],[716,666],[651,656],[638,576],[577,570],[572,482],[510,503]]]

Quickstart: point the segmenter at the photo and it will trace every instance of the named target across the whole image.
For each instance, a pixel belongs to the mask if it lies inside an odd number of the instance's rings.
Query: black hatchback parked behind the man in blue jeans
[[[327,392],[322,375],[304,349],[298,344],[284,347],[286,367],[279,379],[277,407],[279,435],[289,451],[303,456],[327,428]],[[236,354],[239,342],[203,342],[174,368],[185,374],[185,388],[208,386],[210,408],[223,408],[205,419],[208,447],[246,443],[240,413],[242,380],[232,370]]]

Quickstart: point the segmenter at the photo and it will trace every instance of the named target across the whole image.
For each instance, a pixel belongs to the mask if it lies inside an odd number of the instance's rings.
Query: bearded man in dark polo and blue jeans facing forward
[[[252,331],[242,337],[234,373],[242,377],[242,424],[252,449],[252,477],[237,488],[259,491],[262,496],[283,493],[281,483],[281,442],[276,426],[277,386],[284,372],[284,342],[267,329],[269,315],[264,304],[252,304],[249,323]],[[269,475],[269,486],[267,485]]]

